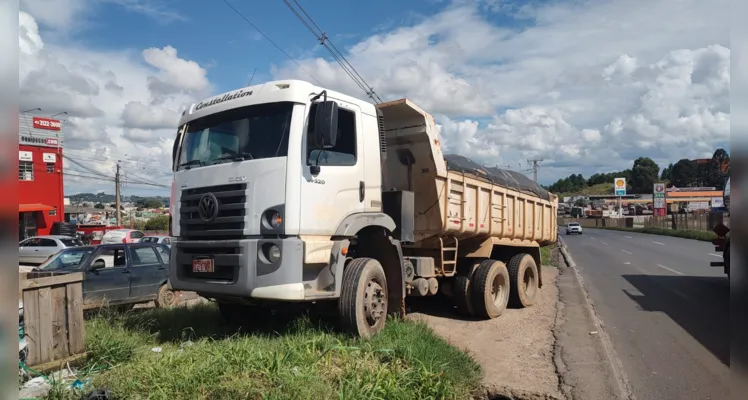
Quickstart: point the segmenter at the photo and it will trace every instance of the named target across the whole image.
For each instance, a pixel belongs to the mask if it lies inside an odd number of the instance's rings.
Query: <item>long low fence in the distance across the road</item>
[[[624,218],[566,218],[559,217],[558,223],[564,226],[569,222],[579,222],[585,228],[659,228],[691,231],[711,231],[719,223],[730,226],[729,217],[724,214],[671,214],[662,217],[636,216]]]

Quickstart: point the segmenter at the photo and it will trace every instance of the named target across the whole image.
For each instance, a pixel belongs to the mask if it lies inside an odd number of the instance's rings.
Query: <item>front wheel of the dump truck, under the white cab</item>
[[[387,277],[379,261],[351,261],[343,270],[338,300],[342,328],[364,339],[379,333],[387,320],[387,296]]]

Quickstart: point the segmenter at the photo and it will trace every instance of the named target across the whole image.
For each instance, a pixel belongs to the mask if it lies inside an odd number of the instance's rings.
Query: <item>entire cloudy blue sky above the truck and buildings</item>
[[[478,162],[527,172],[542,158],[552,183],[729,146],[728,0],[298,1],[384,100],[415,101],[449,152]],[[283,0],[229,2],[325,86],[365,97]],[[168,179],[179,108],[255,69],[253,83],[309,79],[223,0],[21,10],[21,104],[71,111],[70,154],[106,174],[125,157]]]

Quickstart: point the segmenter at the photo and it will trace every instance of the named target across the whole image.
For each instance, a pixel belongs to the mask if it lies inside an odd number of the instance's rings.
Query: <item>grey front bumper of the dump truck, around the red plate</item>
[[[272,246],[280,257],[271,262]],[[213,259],[212,272],[194,272],[193,260]],[[169,282],[174,290],[204,297],[304,300],[304,242],[299,238],[177,240],[172,245]]]

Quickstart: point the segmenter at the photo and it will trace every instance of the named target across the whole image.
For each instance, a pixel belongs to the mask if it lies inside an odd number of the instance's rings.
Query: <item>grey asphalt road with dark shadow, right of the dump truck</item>
[[[708,242],[559,234],[638,400],[729,398],[730,286]]]

